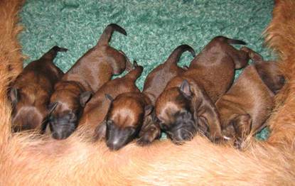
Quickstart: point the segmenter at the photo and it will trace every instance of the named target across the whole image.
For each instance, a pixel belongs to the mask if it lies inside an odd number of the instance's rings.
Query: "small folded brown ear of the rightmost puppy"
[[[251,132],[252,119],[249,114],[239,115],[232,119],[230,124],[235,128],[235,137],[237,139],[245,138]]]

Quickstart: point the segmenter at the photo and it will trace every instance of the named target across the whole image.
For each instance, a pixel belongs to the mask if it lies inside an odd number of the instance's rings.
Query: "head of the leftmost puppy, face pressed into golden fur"
[[[41,126],[43,119],[48,114],[46,104],[48,95],[39,91],[38,95],[13,87],[9,91],[12,104],[12,126],[14,131],[23,131]]]

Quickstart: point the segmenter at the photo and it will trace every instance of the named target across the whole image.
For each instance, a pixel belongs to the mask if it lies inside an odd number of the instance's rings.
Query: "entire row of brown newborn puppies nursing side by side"
[[[8,95],[14,131],[45,133],[49,128],[53,138],[63,140],[81,126],[93,143],[104,140],[111,150],[136,138],[140,146],[152,145],[161,131],[177,145],[200,134],[240,148],[265,126],[274,95],[284,86],[276,62],[231,45],[246,45],[242,40],[218,36],[198,55],[189,45],[178,46],[150,72],[140,92],[135,81],[143,67],[137,62],[132,67],[123,51],[109,46],[114,31],[127,35],[109,24],[97,45],[65,74],[53,64],[55,55],[67,50],[58,46],[26,66]],[[189,67],[178,67],[186,51],[194,58]],[[235,70],[241,68],[245,70],[234,82]],[[124,70],[127,75],[111,80]]]

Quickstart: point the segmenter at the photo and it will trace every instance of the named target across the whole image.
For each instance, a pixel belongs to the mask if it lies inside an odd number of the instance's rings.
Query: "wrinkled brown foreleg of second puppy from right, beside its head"
[[[208,136],[211,141],[223,138],[219,114],[215,105],[204,91],[198,90],[195,95],[193,116],[195,121],[198,121],[200,132]]]

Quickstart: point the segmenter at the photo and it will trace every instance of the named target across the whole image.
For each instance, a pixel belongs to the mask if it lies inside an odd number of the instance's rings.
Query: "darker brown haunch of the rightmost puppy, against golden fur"
[[[277,63],[255,62],[254,65],[263,82],[274,94],[277,94],[285,83],[284,75],[279,71]]]

